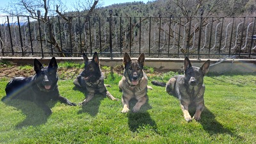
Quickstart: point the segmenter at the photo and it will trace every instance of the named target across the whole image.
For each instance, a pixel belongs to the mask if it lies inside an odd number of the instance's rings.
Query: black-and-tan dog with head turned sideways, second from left
[[[118,100],[108,92],[104,85],[104,76],[100,70],[100,61],[97,52],[94,52],[92,60],[89,60],[86,54],[83,54],[83,59],[84,70],[74,80],[74,84],[79,88],[83,88],[87,93],[86,99],[83,100],[81,105],[89,102],[96,93],[107,96],[111,100]]]

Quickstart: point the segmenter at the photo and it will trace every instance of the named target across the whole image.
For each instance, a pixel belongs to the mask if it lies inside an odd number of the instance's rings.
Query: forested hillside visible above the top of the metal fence
[[[99,7],[93,12],[97,16],[122,17],[196,17],[204,10],[205,17],[253,16],[256,10],[255,0],[159,0],[148,3],[132,2]],[[86,11],[79,13],[83,15]],[[67,13],[77,15],[77,13]]]

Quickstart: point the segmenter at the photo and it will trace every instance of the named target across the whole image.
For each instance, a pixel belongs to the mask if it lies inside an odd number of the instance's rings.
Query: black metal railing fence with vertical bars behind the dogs
[[[0,17],[1,56],[256,56],[256,17]]]

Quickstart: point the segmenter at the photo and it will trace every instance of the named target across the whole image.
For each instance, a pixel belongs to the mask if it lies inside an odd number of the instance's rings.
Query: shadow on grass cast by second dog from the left
[[[84,93],[84,98],[81,100],[81,102],[83,102],[83,100],[86,98],[86,91],[83,88],[77,88],[76,86],[73,88],[73,90],[79,90],[80,92]],[[99,113],[100,101],[104,98],[104,95],[96,94],[92,100],[81,106],[82,109],[77,113],[88,113],[91,116],[96,116]]]

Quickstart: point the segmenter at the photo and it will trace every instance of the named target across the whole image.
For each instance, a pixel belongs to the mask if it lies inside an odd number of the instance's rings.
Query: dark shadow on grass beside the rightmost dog
[[[195,112],[194,109],[193,112]],[[220,122],[216,120],[215,115],[207,108],[205,108],[202,112],[201,118],[202,119],[199,121],[199,123],[203,126],[204,130],[208,132],[211,136],[215,134],[229,134],[232,137],[244,139],[243,137],[234,134],[232,131],[220,124]]]

